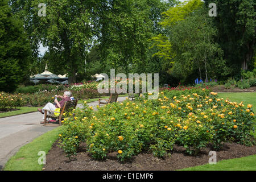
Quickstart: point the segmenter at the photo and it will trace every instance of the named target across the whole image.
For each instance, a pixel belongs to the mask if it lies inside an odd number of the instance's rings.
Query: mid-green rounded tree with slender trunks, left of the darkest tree
[[[183,75],[186,75],[184,72],[189,74],[193,72],[193,69],[198,69],[199,76],[202,78],[201,71],[204,70],[205,79],[208,80],[208,71],[214,69],[213,64],[222,65],[225,68],[222,50],[214,42],[217,29],[212,25],[207,11],[203,7],[194,11],[185,20],[177,22],[171,31],[170,41],[176,52],[174,62],[184,67],[176,69],[175,72],[181,71]],[[217,77],[218,75],[211,76]]]

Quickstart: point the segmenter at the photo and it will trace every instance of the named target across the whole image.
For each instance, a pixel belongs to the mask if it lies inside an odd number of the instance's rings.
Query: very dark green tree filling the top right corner
[[[205,0],[205,6],[216,3],[217,42],[224,49],[225,59],[233,68],[233,75],[248,69],[253,60],[256,35],[256,2],[254,0]],[[250,68],[252,69],[252,68]]]

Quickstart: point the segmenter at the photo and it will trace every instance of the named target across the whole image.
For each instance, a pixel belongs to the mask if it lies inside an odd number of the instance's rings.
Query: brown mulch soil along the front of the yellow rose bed
[[[185,154],[185,148],[175,146],[171,156],[164,159],[156,158],[150,153],[134,156],[130,162],[121,163],[117,160],[117,152],[109,154],[108,159],[98,161],[90,158],[86,152],[86,144],[82,143],[77,159],[69,161],[64,152],[57,147],[57,142],[52,146],[46,156],[47,171],[171,171],[187,167],[207,164],[209,161],[210,145],[197,156]],[[241,158],[256,154],[256,146],[246,147],[237,143],[225,143],[221,151],[217,151],[217,162],[224,159]]]

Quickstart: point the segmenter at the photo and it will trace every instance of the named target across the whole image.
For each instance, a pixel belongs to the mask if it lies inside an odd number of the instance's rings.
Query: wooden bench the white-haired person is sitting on
[[[66,101],[64,106],[60,109],[60,112],[45,109],[43,126],[61,126],[61,119],[63,117],[63,113],[70,111],[71,109],[76,109],[77,101],[78,101],[77,99]],[[55,114],[53,114],[53,112],[60,113],[60,115],[56,116]],[[56,118],[56,122],[59,122],[59,123],[47,123],[47,118]]]

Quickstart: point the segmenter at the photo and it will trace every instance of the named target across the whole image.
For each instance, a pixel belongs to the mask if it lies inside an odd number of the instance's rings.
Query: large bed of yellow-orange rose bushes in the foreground
[[[84,104],[83,109],[65,113],[59,146],[69,159],[86,142],[92,158],[104,159],[117,151],[123,161],[147,150],[163,157],[174,144],[190,155],[197,155],[209,143],[214,150],[228,141],[254,144],[252,105],[218,98],[209,90],[184,92],[173,96],[173,91],[164,90],[157,100],[148,100],[148,93],[135,102],[108,104],[97,112]]]

